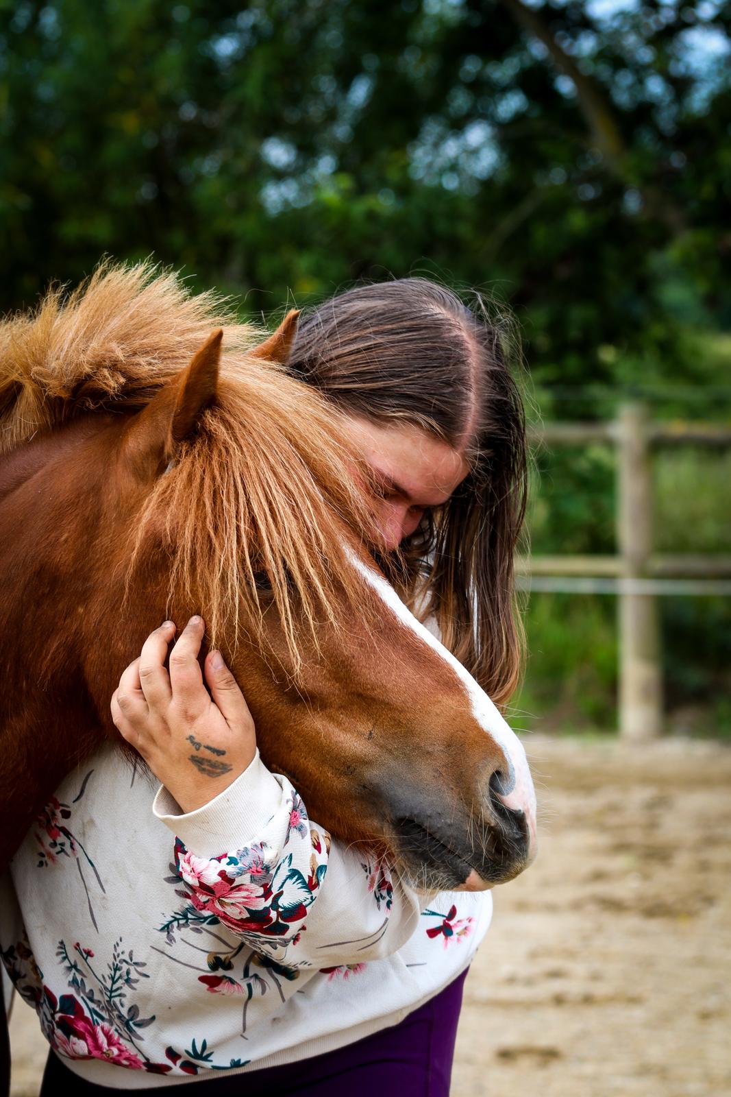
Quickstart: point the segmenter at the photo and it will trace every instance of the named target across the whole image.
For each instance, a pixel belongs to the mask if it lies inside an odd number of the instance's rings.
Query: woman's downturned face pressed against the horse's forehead
[[[425,510],[446,502],[469,472],[461,453],[410,422],[347,416],[347,432],[378,484],[374,509],[386,550],[413,533]]]

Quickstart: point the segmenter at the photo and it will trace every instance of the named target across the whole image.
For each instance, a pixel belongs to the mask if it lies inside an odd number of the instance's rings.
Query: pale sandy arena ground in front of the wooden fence
[[[527,747],[540,853],[495,891],[453,1095],[731,1097],[731,749]],[[35,1097],[22,1004],[12,1036],[13,1097]]]

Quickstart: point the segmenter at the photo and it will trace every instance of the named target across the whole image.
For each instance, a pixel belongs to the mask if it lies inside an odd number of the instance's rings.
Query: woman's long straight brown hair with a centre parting
[[[289,367],[346,415],[415,423],[465,452],[465,480],[381,565],[504,706],[525,652],[513,575],[527,496],[525,412],[512,326],[476,299],[472,310],[423,278],[358,285],[302,316]]]

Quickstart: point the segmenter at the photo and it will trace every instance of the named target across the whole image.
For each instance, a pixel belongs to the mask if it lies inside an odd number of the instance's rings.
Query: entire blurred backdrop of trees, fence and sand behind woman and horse
[[[731,5],[0,0],[0,133],[2,310],[103,253],[269,321],[414,273],[512,309],[541,855],[454,1093],[731,1094]]]

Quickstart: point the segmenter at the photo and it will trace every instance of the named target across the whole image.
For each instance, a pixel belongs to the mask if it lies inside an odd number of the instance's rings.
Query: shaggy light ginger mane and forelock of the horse
[[[317,648],[319,625],[366,611],[347,528],[362,538],[372,516],[332,407],[253,357],[266,332],[237,321],[224,298],[194,296],[150,262],[106,260],[70,294],[52,287],[34,313],[2,321],[0,453],[81,415],[141,409],[218,327],[216,400],[152,486],[127,585],[162,529],[170,597],[201,599],[212,646],[230,649],[242,631],[255,642],[273,599],[297,668],[302,625]]]

